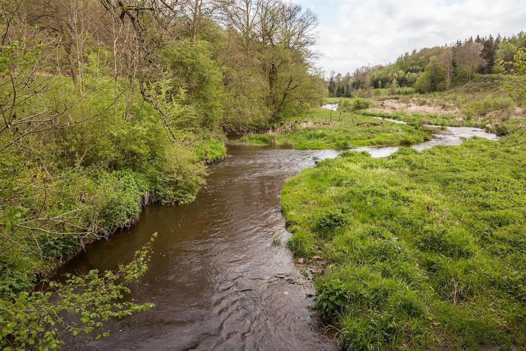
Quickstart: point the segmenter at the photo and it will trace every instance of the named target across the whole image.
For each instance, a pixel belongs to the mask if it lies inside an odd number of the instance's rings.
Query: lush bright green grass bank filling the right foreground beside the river
[[[526,132],[290,178],[289,246],[346,349],[526,348]]]

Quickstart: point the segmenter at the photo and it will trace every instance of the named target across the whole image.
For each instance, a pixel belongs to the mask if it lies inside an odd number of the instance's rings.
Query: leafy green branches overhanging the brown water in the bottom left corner
[[[108,336],[102,327],[109,318],[123,318],[153,308],[151,303],[124,300],[148,270],[151,245],[157,233],[134,259],[115,271],[90,270],[85,276],[67,275],[64,283],[48,282],[42,290],[0,300],[0,346],[5,349],[58,349],[64,331]],[[72,318],[77,316],[78,318]]]

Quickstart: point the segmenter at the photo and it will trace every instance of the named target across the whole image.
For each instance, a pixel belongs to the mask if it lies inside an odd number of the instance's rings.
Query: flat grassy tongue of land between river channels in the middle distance
[[[289,145],[295,149],[345,149],[352,146],[411,145],[430,138],[429,133],[418,127],[316,108],[303,118],[286,121],[268,133],[245,135],[240,142]]]

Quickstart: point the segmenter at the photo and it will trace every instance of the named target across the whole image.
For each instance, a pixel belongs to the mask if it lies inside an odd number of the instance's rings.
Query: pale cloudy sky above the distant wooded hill
[[[413,48],[526,31],[526,0],[292,0],[319,17],[319,65],[345,74]]]

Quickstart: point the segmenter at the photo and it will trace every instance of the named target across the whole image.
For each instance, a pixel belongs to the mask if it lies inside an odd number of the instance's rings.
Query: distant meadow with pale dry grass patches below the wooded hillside
[[[477,75],[471,82],[448,91],[419,94],[413,88],[358,91],[370,101],[361,115],[399,119],[411,124],[467,126],[506,135],[526,129],[524,107],[503,88],[501,75]],[[325,103],[351,106],[355,98],[330,97]]]

